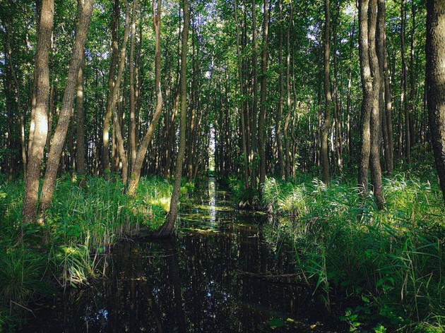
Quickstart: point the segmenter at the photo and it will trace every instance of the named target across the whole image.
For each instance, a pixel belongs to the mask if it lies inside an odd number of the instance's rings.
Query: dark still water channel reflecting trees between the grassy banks
[[[22,332],[343,332],[304,284],[245,274],[295,272],[263,219],[210,179],[182,205],[177,238],[118,244],[106,278],[43,302]]]

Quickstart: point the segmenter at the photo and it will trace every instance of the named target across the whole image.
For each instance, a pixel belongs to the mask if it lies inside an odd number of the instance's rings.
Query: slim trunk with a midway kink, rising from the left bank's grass
[[[153,139],[156,126],[158,125],[162,112],[162,89],[160,85],[161,63],[160,63],[160,18],[161,18],[161,0],[158,0],[158,8],[155,9],[155,0],[153,0],[153,25],[155,28],[155,87],[156,87],[156,110],[153,119],[148,126],[146,135],[144,135],[141,145],[138,148],[134,165],[131,167],[131,177],[128,186],[128,194],[135,195],[138,189],[139,179],[141,178],[141,169],[143,159],[146,157],[148,145]]]

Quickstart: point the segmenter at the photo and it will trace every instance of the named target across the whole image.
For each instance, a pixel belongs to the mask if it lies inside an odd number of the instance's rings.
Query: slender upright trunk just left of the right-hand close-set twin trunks
[[[329,0],[324,3],[324,123],[321,126],[321,168],[323,174],[323,182],[329,185],[329,151],[328,151],[328,135],[331,127],[331,73],[330,73],[330,51],[331,51],[331,27],[329,15]]]

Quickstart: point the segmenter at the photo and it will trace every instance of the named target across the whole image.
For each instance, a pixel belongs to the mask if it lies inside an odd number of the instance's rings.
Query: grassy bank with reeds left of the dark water
[[[30,301],[100,275],[114,242],[141,228],[157,229],[172,193],[172,183],[161,178],[141,178],[130,198],[118,177],[88,177],[79,187],[66,175],[57,182],[45,225],[23,226],[23,188],[23,181],[0,180],[0,332],[30,314]]]

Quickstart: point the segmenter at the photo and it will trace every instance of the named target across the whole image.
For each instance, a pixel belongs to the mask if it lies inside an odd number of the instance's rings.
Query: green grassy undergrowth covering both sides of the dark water
[[[351,330],[443,332],[445,207],[432,171],[385,178],[381,211],[371,194],[360,197],[352,177],[334,178],[328,188],[307,174],[287,182],[268,178],[261,200],[242,181],[229,182],[237,202],[267,208],[267,241],[277,253],[284,243],[294,249],[295,270],[327,308],[333,293],[350,301],[340,319]],[[66,175],[45,225],[23,226],[23,186],[0,182],[0,327],[6,329],[18,325],[35,296],[100,276],[100,256],[117,240],[157,229],[172,192],[171,181],[148,177],[129,198],[119,177],[88,177],[79,187]],[[193,190],[184,183],[183,193]]]

